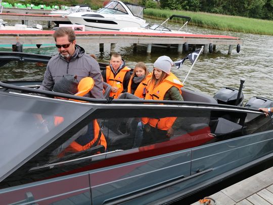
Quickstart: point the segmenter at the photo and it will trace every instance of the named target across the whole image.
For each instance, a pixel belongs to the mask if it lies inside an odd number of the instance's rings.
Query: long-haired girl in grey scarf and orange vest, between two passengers
[[[144,62],[136,63],[128,84],[128,93],[139,98],[145,98],[148,82],[151,80],[151,77],[152,74],[149,73]]]

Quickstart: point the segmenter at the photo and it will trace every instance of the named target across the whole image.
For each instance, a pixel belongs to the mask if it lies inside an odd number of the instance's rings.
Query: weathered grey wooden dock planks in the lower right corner
[[[273,167],[208,196],[221,205],[273,204]],[[200,205],[199,201],[192,205]],[[213,203],[212,203],[213,204]]]

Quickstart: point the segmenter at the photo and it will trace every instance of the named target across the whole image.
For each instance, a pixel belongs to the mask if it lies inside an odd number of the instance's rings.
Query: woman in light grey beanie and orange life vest
[[[181,87],[183,84],[170,72],[173,61],[168,56],[160,56],[154,62],[152,79],[149,82],[145,100],[177,100],[183,101]],[[176,117],[160,119],[142,118],[144,133],[142,145],[169,140],[173,135]]]

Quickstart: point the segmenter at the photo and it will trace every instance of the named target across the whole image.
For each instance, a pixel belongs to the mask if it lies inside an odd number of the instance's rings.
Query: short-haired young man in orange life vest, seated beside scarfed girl
[[[125,61],[120,54],[112,54],[110,65],[106,66],[106,70],[102,72],[103,81],[111,86],[110,97],[117,98],[120,93],[127,92],[130,70],[125,66]]]

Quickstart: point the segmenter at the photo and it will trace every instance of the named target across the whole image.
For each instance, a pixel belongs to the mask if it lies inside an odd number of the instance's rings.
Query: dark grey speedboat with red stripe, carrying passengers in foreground
[[[216,99],[183,89],[183,102],[143,103],[28,85],[39,86],[0,82],[2,204],[188,204],[272,164],[272,119],[257,110],[273,106],[265,98],[254,97],[243,107],[235,105],[242,102],[240,92],[239,101],[233,98],[236,89],[224,88]],[[56,116],[63,119],[59,125]],[[180,123],[169,141],[132,148],[142,117],[177,117]],[[106,151],[98,145],[56,155],[94,119]]]

